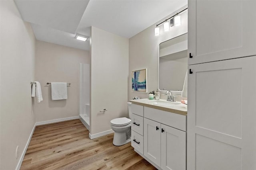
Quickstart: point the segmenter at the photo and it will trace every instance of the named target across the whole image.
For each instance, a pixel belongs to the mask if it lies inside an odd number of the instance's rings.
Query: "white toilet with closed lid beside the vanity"
[[[128,111],[129,117],[131,117],[131,106],[132,103],[128,102]],[[111,128],[113,129],[114,139],[113,144],[116,146],[121,146],[131,141],[131,119],[126,117],[120,117],[116,119],[112,119],[110,121]]]

